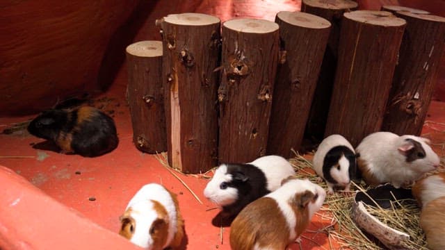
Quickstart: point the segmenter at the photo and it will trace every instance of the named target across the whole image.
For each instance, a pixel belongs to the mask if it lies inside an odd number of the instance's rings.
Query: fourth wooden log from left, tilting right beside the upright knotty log
[[[291,149],[300,148],[305,133],[331,24],[316,15],[289,11],[278,12],[275,22],[285,58],[275,78],[267,153],[291,158]]]

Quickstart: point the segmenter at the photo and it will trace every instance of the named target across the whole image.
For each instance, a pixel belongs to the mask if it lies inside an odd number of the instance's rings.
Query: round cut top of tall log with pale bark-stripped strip
[[[218,24],[220,19],[212,15],[201,13],[181,13],[168,15],[167,17],[163,18],[163,22],[185,26],[206,26]]]

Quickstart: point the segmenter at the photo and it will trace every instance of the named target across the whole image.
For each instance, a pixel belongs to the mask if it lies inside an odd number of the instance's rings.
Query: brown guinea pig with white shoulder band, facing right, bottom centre
[[[309,180],[294,176],[283,185],[246,206],[230,226],[234,250],[286,249],[320,210],[326,192]]]

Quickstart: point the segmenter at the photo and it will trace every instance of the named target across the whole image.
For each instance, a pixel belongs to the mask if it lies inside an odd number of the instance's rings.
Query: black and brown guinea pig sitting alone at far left
[[[31,135],[55,142],[63,153],[94,157],[118,147],[111,117],[89,106],[47,110],[28,126]]]

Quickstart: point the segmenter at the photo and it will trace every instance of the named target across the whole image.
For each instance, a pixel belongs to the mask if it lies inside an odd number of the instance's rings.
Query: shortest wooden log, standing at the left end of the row
[[[162,42],[142,41],[127,49],[127,101],[133,143],[140,151],[167,150],[162,87]]]

